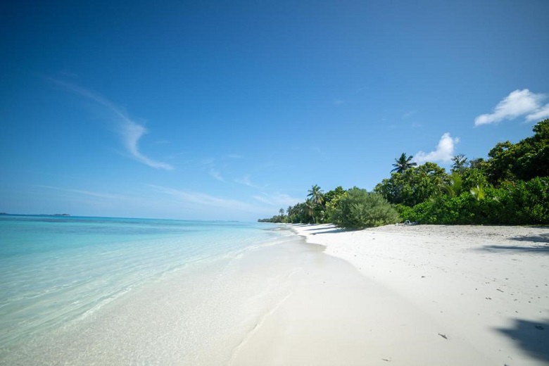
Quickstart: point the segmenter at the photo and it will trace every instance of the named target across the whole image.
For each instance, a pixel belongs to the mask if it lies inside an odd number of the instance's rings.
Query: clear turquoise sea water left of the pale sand
[[[0,216],[0,349],[101,310],[129,291],[288,233],[272,225]]]

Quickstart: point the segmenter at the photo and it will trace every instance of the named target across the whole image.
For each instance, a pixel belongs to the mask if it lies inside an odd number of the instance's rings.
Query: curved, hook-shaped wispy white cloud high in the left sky
[[[65,89],[68,89],[74,94],[83,96],[86,99],[94,101],[108,111],[112,116],[113,120],[117,123],[118,133],[122,137],[122,142],[125,146],[127,152],[136,159],[137,161],[149,165],[151,168],[172,170],[172,165],[168,163],[163,163],[158,160],[153,160],[148,156],[145,156],[141,151],[139,151],[139,139],[147,133],[147,130],[144,126],[139,125],[137,122],[134,122],[119,106],[116,106],[113,102],[104,98],[103,96],[84,89],[75,84],[70,84],[68,82],[63,82],[61,80],[56,80],[51,77],[47,78],[51,82],[61,85]]]

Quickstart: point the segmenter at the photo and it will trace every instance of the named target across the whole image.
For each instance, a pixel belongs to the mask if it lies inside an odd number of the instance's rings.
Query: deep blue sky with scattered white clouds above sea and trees
[[[8,213],[256,220],[313,184],[370,190],[403,152],[447,169],[486,158],[549,117],[545,0],[8,1],[0,14]]]

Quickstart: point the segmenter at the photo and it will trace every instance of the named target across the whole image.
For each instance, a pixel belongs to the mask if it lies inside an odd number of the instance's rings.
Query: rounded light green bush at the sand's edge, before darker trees
[[[332,220],[338,227],[363,229],[393,224],[400,218],[381,195],[353,188],[339,200],[339,205],[332,213]]]

